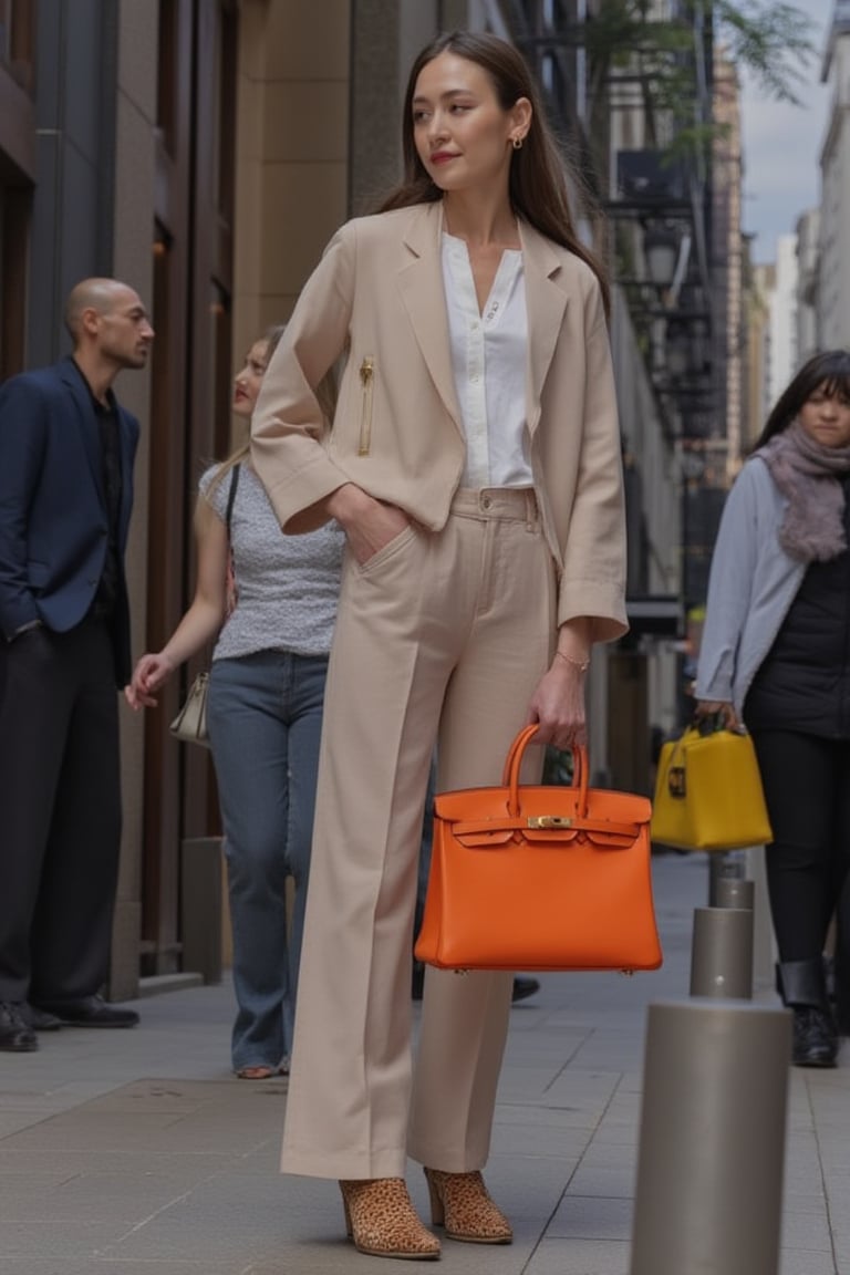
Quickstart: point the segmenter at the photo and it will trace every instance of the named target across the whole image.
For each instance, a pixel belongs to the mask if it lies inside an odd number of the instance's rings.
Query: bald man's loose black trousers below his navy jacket
[[[121,841],[106,623],[0,644],[0,1001],[74,1001],[106,979]]]

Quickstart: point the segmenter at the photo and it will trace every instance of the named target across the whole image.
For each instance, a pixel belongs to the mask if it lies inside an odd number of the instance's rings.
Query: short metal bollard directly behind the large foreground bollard
[[[746,908],[695,908],[691,996],[752,1000],[753,914]]]

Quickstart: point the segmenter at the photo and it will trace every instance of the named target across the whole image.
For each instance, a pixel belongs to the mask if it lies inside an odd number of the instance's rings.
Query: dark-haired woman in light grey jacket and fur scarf
[[[777,987],[808,1067],[837,1054],[823,947],[850,866],[849,486],[850,353],[831,351],[793,379],[729,493],[696,686],[697,714],[756,745]]]

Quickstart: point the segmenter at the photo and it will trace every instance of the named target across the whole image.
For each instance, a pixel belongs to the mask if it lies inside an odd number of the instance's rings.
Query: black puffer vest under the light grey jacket
[[[850,479],[844,525],[850,543]],[[810,562],[744,704],[749,731],[850,740],[850,552]]]

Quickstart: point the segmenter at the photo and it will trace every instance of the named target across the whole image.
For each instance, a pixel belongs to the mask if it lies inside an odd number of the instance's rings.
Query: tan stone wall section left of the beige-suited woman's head
[[[233,366],[298,292],[348,212],[349,0],[242,0]]]

